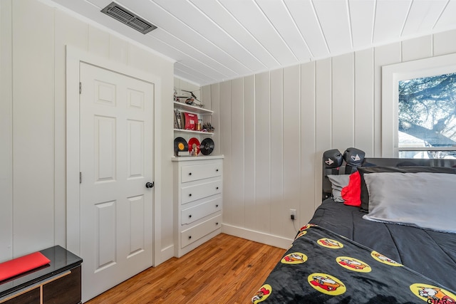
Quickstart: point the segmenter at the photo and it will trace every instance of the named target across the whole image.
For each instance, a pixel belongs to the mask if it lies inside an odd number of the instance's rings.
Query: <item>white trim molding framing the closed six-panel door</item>
[[[69,251],[75,254],[81,252],[81,236],[80,236],[80,193],[79,193],[79,79],[80,79],[80,63],[88,63],[96,65],[100,68],[113,70],[117,73],[122,73],[133,78],[138,78],[149,83],[155,84],[155,103],[154,103],[154,144],[153,153],[154,159],[153,180],[155,182],[153,212],[154,212],[154,257],[153,265],[156,266],[163,261],[161,248],[161,197],[162,189],[160,185],[161,169],[162,169],[162,153],[160,145],[157,142],[162,142],[161,136],[161,78],[157,75],[145,73],[142,70],[109,61],[106,58],[87,53],[72,46],[66,46],[66,247]],[[156,173],[157,172],[157,173]],[[167,251],[165,251],[167,253]]]

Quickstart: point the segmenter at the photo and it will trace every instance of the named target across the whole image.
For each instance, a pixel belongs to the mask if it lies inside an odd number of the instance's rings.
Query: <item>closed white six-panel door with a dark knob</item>
[[[83,302],[152,266],[154,85],[81,63]]]

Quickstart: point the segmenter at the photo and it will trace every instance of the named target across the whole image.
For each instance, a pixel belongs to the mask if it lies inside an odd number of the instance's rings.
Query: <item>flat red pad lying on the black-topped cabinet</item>
[[[50,261],[43,253],[35,252],[0,263],[0,281],[31,271],[34,268],[46,265]]]

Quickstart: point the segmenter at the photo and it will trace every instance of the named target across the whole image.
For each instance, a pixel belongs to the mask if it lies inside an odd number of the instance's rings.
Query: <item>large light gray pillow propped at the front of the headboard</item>
[[[365,174],[369,213],[363,219],[456,233],[456,174]]]

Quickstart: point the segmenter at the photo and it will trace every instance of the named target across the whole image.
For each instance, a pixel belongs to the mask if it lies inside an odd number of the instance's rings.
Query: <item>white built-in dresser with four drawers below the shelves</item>
[[[175,256],[222,230],[223,156],[173,157]]]

